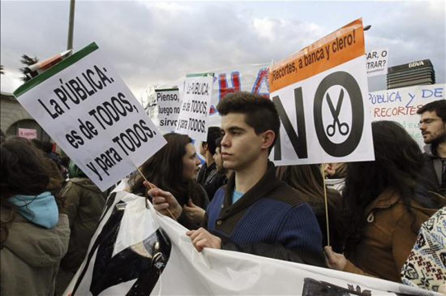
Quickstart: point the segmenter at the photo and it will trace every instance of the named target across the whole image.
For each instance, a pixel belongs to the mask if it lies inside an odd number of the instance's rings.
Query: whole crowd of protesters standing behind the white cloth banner
[[[128,180],[129,192],[188,229],[197,251],[235,250],[446,293],[446,100],[418,110],[424,153],[398,123],[377,121],[374,161],[280,167],[269,160],[280,127],[272,100],[236,92],[217,109],[221,127],[199,143],[202,165],[192,139],[169,133],[140,167],[144,176]],[[1,295],[61,295],[109,192],[47,143],[2,135],[0,148]],[[420,252],[430,234],[443,243]]]

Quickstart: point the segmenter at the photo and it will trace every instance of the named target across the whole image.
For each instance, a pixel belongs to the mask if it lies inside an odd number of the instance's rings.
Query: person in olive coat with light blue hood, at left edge
[[[22,138],[6,138],[0,157],[1,294],[53,296],[70,234],[56,202],[60,174]]]

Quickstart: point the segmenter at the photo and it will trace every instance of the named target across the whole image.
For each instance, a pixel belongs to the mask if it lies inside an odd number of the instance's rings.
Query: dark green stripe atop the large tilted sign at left
[[[78,60],[80,60],[80,59],[84,58],[85,56],[89,55],[90,53],[92,53],[96,49],[99,49],[99,47],[96,44],[96,42],[93,42],[93,43],[87,45],[83,49],[77,51],[76,53],[73,53],[71,56],[69,56],[69,57],[65,58],[64,60],[60,61],[59,63],[57,63],[56,65],[54,65],[50,69],[46,70],[45,72],[37,75],[36,77],[31,79],[30,81],[22,84],[12,94],[14,95],[15,98],[20,97],[21,95],[23,95],[27,91],[31,90],[32,88],[38,86],[39,84],[41,84],[42,82],[47,80],[48,78],[51,78],[52,76],[56,75],[57,73],[59,73],[60,71],[64,70],[65,68],[68,68],[69,66],[71,66],[72,64],[77,62]]]

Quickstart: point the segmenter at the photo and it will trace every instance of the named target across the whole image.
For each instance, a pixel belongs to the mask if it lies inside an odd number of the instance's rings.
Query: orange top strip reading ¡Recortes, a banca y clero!
[[[364,54],[364,30],[359,18],[274,64],[270,70],[270,92]]]

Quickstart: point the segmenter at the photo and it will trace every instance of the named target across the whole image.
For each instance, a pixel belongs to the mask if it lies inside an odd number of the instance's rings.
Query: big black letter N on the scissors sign
[[[297,119],[297,133],[299,137],[296,135],[296,131],[294,130],[291,121],[286,115],[285,108],[282,105],[282,102],[279,99],[279,96],[273,98],[273,102],[276,105],[277,111],[279,113],[280,121],[282,122],[283,128],[285,129],[286,134],[291,142],[291,145],[296,151],[297,157],[299,158],[308,158],[308,150],[307,150],[307,134],[305,131],[305,114],[303,108],[303,97],[302,97],[302,88],[294,89],[294,102],[296,106],[296,119]],[[274,160],[281,160],[281,145],[280,145],[280,134],[277,135],[278,140],[276,141],[276,145],[274,148]]]

